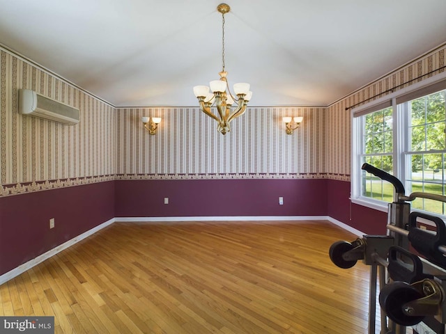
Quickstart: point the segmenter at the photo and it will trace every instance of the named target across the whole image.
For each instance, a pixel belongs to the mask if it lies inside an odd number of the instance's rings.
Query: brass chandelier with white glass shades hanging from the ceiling
[[[231,8],[226,3],[220,3],[217,10],[222,13],[222,65],[220,80],[210,81],[209,86],[194,86],[194,94],[197,97],[200,109],[207,116],[218,122],[217,130],[221,134],[231,131],[229,122],[238,116],[242,116],[246,111],[247,104],[252,97],[249,84],[234,84],[233,90],[237,97],[229,90],[226,76],[228,72],[224,70],[224,14],[229,13]],[[233,107],[233,104],[237,104]],[[215,110],[216,109],[216,110]]]

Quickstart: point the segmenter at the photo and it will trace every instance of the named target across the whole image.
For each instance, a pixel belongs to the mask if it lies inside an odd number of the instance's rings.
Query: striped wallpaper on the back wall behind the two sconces
[[[199,108],[118,109],[118,175],[124,178],[314,177],[324,164],[325,108],[249,108],[217,132]],[[157,134],[141,116],[161,117]],[[303,116],[285,132],[283,116]]]

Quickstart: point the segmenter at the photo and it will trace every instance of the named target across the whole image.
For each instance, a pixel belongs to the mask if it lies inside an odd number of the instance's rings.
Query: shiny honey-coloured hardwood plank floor
[[[369,267],[325,221],[114,223],[0,286],[55,333],[367,333]]]

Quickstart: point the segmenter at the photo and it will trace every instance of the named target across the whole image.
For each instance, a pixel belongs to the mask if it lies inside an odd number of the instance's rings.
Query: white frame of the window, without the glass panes
[[[380,106],[383,104],[391,104],[393,109],[393,170],[392,173],[395,177],[399,178],[403,182],[406,188],[406,170],[404,170],[405,164],[403,164],[404,159],[406,159],[407,148],[403,147],[408,142],[408,132],[401,131],[401,129],[408,128],[408,118],[403,117],[402,111],[398,111],[397,100],[403,95],[408,95],[410,93],[415,93],[417,90],[422,90],[433,84],[438,84],[440,81],[446,80],[446,72],[437,74],[434,77],[424,79],[423,81],[417,82],[412,86],[407,88],[402,88],[397,92],[390,93],[385,97],[380,97],[372,102],[363,104],[354,109],[351,109],[351,202],[357,205],[362,205],[364,207],[370,207],[371,209],[376,209],[381,212],[387,212],[388,203],[381,200],[375,200],[373,198],[368,198],[362,196],[361,194],[361,154],[362,150],[362,125],[360,116],[366,115],[367,113],[372,113],[374,111],[381,110]],[[406,189],[407,191],[407,189]],[[408,193],[406,193],[408,195]],[[445,217],[446,218],[446,217]]]

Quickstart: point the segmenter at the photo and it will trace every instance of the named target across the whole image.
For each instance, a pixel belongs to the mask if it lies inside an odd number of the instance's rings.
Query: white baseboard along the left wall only
[[[77,242],[85,239],[86,237],[91,236],[91,234],[94,234],[95,232],[98,232],[99,230],[102,230],[102,228],[106,228],[108,225],[111,225],[114,223],[115,218],[110,219],[109,221],[106,221],[105,223],[102,223],[95,228],[92,228],[91,230],[88,230],[82,234],[79,234],[77,237],[74,237],[63,244],[54,247],[51,250],[48,250],[46,253],[43,253],[42,255],[39,255],[38,257],[34,258],[33,260],[29,260],[28,262],[21,264],[19,267],[8,271],[7,273],[3,273],[3,275],[0,276],[0,285],[7,282],[8,280],[11,280],[15,278],[16,276],[19,276],[21,273],[24,273],[28,269],[31,269],[32,267],[36,266],[40,262],[43,262],[49,257],[52,257],[53,255],[56,255],[57,253],[61,252],[62,250],[76,244]]]

